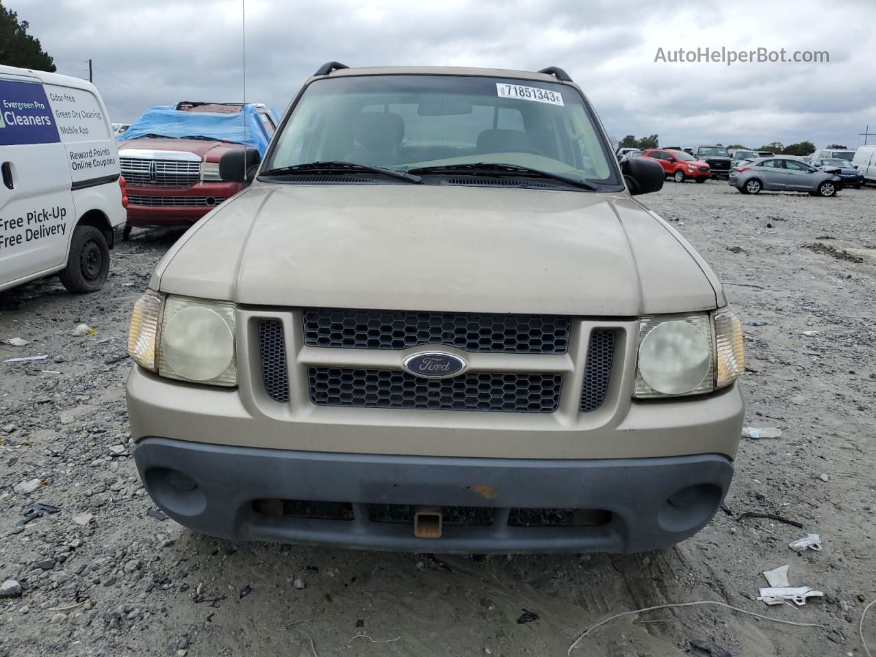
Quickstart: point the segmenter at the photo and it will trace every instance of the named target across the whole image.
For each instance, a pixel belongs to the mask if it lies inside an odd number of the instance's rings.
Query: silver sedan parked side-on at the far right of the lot
[[[787,157],[760,158],[745,162],[731,170],[729,183],[743,194],[757,194],[766,190],[833,196],[842,187],[839,178],[833,173]]]

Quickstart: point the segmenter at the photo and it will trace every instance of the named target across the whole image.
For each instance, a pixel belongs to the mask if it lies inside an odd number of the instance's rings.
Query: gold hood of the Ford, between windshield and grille
[[[256,183],[150,286],[266,306],[635,316],[723,305],[675,230],[626,194]]]

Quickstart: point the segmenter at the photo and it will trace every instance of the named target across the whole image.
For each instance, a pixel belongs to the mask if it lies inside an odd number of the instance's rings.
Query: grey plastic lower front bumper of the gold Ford
[[[145,438],[134,451],[152,499],[192,529],[232,540],[438,553],[640,552],[696,533],[730,485],[724,456],[592,461],[377,456]],[[673,501],[669,501],[672,498]],[[352,519],[265,515],[256,499],[342,503]],[[374,519],[372,505],[489,510],[439,539]],[[598,526],[513,526],[516,509],[600,510]]]

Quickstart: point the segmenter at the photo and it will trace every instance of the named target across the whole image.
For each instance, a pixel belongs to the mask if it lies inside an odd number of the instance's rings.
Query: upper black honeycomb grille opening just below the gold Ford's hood
[[[304,338],[311,347],[402,350],[444,344],[466,351],[564,354],[570,323],[563,315],[305,308]]]

